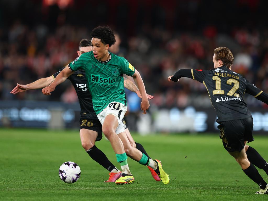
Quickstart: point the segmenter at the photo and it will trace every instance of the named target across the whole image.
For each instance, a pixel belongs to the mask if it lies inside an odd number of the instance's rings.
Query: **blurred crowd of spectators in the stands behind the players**
[[[54,29],[44,23],[30,26],[20,20],[0,28],[1,100],[77,101],[69,81],[59,85],[51,96],[44,96],[41,90],[10,94],[17,83],[53,75],[77,57],[81,39],[90,39],[91,30],[86,26],[61,23],[61,17]],[[219,46],[232,51],[233,71],[268,92],[268,29],[231,26],[228,32],[221,32],[217,26],[204,25],[195,32],[143,26],[129,34],[116,26],[112,28],[117,42],[110,51],[127,58],[139,70],[147,93],[155,96],[150,103],[158,108],[211,107],[203,84],[191,79],[169,83],[167,78],[182,68],[213,68],[213,50]],[[245,99],[250,106],[265,107],[250,96],[245,95]]]

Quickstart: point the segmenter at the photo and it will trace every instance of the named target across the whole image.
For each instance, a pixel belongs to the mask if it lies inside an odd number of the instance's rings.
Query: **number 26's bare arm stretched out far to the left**
[[[51,75],[50,77],[44,77],[41,78],[39,80],[36,80],[30,84],[18,84],[17,86],[14,87],[14,89],[10,92],[12,94],[17,94],[18,92],[24,92],[27,90],[33,90],[33,89],[40,89],[43,87],[46,87],[47,85],[49,85],[51,82],[53,82],[54,77],[53,75]]]

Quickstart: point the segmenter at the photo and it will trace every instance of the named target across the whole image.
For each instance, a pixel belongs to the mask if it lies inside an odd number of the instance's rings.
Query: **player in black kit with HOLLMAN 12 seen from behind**
[[[236,159],[244,173],[259,185],[260,190],[256,194],[268,194],[268,185],[255,168],[263,169],[268,175],[268,164],[254,148],[246,145],[254,140],[253,118],[243,99],[244,93],[248,93],[268,104],[268,95],[233,72],[233,61],[233,54],[228,48],[218,47],[213,55],[214,69],[181,69],[174,76],[169,76],[168,81],[177,82],[181,77],[188,77],[204,84],[218,116],[216,122],[219,123],[219,137],[224,148]]]

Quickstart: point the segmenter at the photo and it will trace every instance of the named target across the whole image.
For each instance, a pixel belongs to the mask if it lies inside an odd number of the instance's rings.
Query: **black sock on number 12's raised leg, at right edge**
[[[268,175],[268,165],[266,161],[262,158],[262,156],[256,151],[253,147],[248,147],[248,150],[246,151],[248,160],[258,167],[259,169],[263,169],[266,174]]]

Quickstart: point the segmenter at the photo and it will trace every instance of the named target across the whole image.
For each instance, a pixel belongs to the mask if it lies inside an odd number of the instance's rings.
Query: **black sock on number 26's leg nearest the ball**
[[[111,163],[106,155],[99,150],[95,145],[91,147],[89,150],[86,151],[88,155],[97,163],[103,166],[103,168],[107,169],[109,172],[111,172],[112,169],[116,169],[116,166]]]

